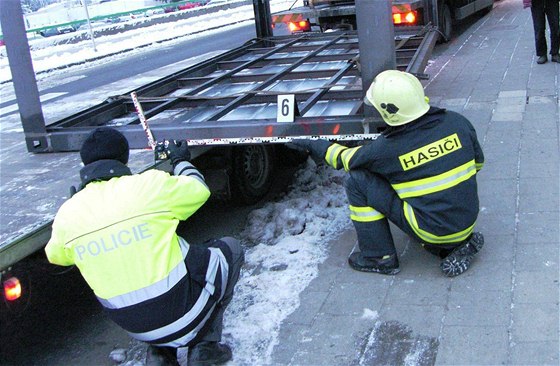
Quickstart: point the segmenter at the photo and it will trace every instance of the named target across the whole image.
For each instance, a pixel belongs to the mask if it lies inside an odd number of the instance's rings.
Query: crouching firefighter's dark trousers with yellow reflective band
[[[404,216],[403,201],[385,178],[365,170],[351,170],[345,181],[345,188],[348,203],[357,208],[352,223],[356,229],[358,246],[364,256],[382,257],[396,253],[389,221],[413,239],[422,242]],[[381,215],[368,211],[366,213],[369,217],[360,216],[360,208],[372,208]],[[422,244],[435,255],[445,255],[444,253],[449,253],[458,245]]]

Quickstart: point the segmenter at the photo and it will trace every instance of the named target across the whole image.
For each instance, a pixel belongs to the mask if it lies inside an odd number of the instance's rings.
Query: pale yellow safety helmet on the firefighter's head
[[[398,70],[379,73],[366,92],[364,102],[375,107],[389,126],[412,122],[430,109],[420,81]]]

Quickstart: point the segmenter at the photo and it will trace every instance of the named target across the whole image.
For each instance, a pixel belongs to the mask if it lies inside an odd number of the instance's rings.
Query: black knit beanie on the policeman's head
[[[118,160],[128,163],[128,141],[119,131],[111,127],[99,127],[93,130],[80,149],[84,165],[97,160]]]

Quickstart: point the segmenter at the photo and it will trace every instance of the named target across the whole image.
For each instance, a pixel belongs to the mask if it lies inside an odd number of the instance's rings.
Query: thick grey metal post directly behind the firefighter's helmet
[[[356,24],[365,95],[377,74],[397,67],[391,1],[356,0]],[[365,114],[373,115],[373,107],[366,106]]]

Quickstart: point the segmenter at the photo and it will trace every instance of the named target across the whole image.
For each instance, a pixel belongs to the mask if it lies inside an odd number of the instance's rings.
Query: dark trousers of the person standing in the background
[[[558,54],[560,39],[558,0],[532,0],[531,16],[535,31],[535,49],[537,56],[546,56],[546,21],[550,28],[550,54]]]

